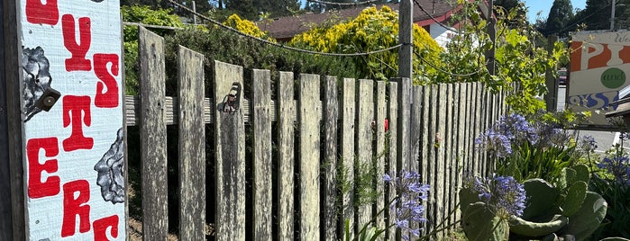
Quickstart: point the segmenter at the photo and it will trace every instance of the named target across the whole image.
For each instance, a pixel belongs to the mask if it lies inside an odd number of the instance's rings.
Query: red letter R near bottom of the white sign
[[[75,198],[76,197],[76,198]],[[63,184],[63,223],[61,224],[61,237],[69,237],[78,231],[85,233],[90,230],[90,200],[89,183],[86,180],[78,180]]]

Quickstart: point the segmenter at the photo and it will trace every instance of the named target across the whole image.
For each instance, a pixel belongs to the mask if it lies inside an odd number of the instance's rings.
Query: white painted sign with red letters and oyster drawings
[[[21,0],[20,22],[27,237],[124,240],[120,2]]]

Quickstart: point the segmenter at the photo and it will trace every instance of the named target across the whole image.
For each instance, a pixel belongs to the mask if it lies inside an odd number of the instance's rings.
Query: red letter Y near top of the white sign
[[[86,58],[87,50],[90,49],[92,41],[90,25],[90,18],[78,19],[78,35],[81,42],[79,44],[76,38],[75,18],[71,14],[64,14],[61,17],[63,45],[72,54],[71,58],[66,58],[66,71],[89,71],[92,69],[92,63]]]

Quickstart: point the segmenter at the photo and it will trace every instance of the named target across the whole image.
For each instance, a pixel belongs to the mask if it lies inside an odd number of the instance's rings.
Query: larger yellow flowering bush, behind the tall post
[[[427,60],[438,58],[443,49],[431,38],[428,32],[414,25],[414,49]],[[386,49],[398,44],[398,13],[388,6],[377,9],[375,6],[364,9],[357,18],[335,24],[319,26],[301,33],[289,44],[306,49],[331,53],[369,52]],[[397,76],[398,52],[392,49],[379,54],[353,57],[361,77],[386,80]],[[437,62],[437,61],[435,61]],[[425,78],[427,71],[421,59],[414,58],[415,82]]]

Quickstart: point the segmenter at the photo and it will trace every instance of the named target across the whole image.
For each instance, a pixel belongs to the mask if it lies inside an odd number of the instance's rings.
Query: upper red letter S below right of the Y
[[[107,70],[107,64],[112,63],[112,74]],[[99,108],[118,107],[118,83],[114,76],[118,76],[119,58],[117,54],[94,54],[94,72],[102,82],[96,83],[96,97],[94,104]],[[105,90],[105,87],[107,88]],[[105,92],[104,92],[105,91]]]

